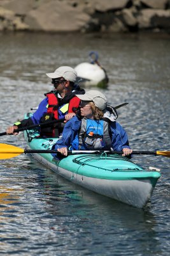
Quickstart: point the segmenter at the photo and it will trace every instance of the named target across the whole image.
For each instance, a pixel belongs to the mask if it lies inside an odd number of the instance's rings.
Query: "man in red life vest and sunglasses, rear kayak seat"
[[[7,134],[15,134],[14,130],[18,128],[28,127],[29,125],[41,124],[52,120],[60,120],[65,118],[70,120],[76,113],[74,109],[80,105],[80,99],[76,95],[84,94],[85,90],[75,84],[77,73],[74,68],[62,66],[57,68],[53,73],[48,73],[46,76],[52,79],[53,91],[45,93],[38,109],[33,115],[20,122],[16,122],[13,126],[7,128]],[[63,128],[55,125],[41,127],[41,136],[57,137]]]

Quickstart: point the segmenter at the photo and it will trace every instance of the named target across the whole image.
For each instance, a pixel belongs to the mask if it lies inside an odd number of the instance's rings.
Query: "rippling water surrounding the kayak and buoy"
[[[134,150],[169,150],[170,42],[167,35],[0,35],[1,132],[52,90],[46,72],[99,52],[110,77],[101,90],[117,106]],[[25,147],[22,134],[1,143]],[[169,255],[169,158],[134,156],[161,178],[145,209],[96,195],[29,155],[1,161],[1,255]]]

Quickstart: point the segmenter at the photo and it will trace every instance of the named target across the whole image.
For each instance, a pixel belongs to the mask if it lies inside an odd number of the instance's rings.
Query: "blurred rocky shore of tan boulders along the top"
[[[170,0],[0,0],[0,31],[170,32]]]

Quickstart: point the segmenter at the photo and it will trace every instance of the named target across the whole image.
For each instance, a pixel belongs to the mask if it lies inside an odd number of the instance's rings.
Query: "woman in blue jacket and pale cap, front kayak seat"
[[[71,150],[114,150],[123,151],[122,156],[129,156],[127,133],[115,120],[115,109],[107,104],[103,93],[90,90],[83,95],[76,95],[80,101],[80,115],[73,116],[62,132],[62,138],[53,145],[60,154],[67,156]],[[56,154],[52,154],[57,158]]]

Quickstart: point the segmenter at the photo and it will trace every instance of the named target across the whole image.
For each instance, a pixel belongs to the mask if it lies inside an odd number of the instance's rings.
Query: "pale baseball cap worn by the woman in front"
[[[80,100],[87,100],[94,102],[95,106],[101,110],[106,109],[107,99],[105,95],[96,90],[90,90],[85,94],[76,95]]]

